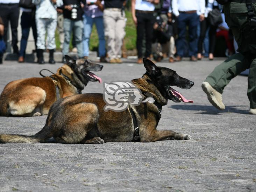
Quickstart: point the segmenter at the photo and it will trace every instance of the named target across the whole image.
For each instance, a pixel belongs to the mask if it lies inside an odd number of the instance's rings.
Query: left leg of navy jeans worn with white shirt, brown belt
[[[180,13],[177,17],[177,26],[178,26],[178,39],[176,41],[177,55],[180,57],[184,56],[184,44],[185,44],[185,35],[186,35],[186,13]]]

